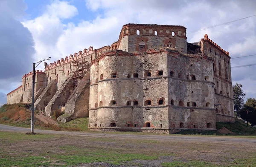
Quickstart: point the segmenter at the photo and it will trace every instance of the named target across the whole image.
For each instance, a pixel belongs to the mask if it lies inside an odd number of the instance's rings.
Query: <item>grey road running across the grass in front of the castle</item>
[[[10,132],[29,132],[29,128],[14,127],[9,125],[0,124],[0,131]],[[67,131],[54,131],[54,130],[35,130],[35,133],[48,133],[48,134],[63,134],[75,136],[88,136],[88,137],[108,137],[108,138],[132,138],[132,139],[151,139],[151,140],[170,140],[182,139],[197,142],[248,142],[256,143],[256,139],[244,139],[233,137],[207,137],[207,136],[181,136],[181,135],[138,135],[138,134],[112,134],[112,133],[87,133],[87,132],[67,132]]]

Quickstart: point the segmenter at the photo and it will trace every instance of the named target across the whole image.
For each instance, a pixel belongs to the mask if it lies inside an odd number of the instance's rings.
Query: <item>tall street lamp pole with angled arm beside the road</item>
[[[43,59],[38,62],[33,62],[33,70],[32,70],[32,108],[31,108],[31,133],[34,133],[34,104],[35,104],[35,68],[43,61],[49,60],[51,57],[48,59]],[[37,66],[35,64],[39,63]]]

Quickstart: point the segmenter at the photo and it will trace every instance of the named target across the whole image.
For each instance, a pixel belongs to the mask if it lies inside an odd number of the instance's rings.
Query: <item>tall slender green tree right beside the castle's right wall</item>
[[[233,98],[234,98],[234,110],[236,111],[236,117],[240,116],[241,109],[244,106],[245,93],[242,90],[242,85],[236,83],[233,86]]]

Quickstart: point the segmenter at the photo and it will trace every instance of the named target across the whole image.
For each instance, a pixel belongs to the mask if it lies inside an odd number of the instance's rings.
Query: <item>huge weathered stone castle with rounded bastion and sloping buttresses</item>
[[[234,122],[230,56],[178,25],[123,25],[117,42],[84,49],[36,71],[35,108],[102,131],[175,133]],[[7,103],[32,101],[32,72]]]

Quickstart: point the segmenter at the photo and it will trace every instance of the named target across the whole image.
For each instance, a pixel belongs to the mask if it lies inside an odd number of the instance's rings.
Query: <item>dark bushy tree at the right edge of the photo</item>
[[[249,98],[241,110],[241,119],[250,122],[251,125],[256,125],[256,99]]]

